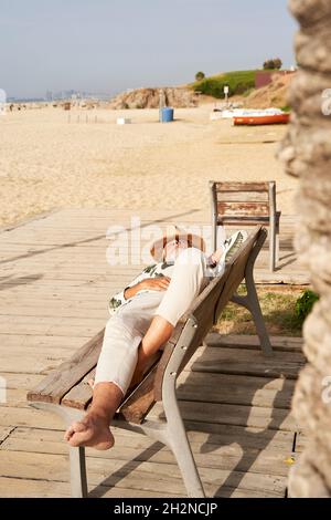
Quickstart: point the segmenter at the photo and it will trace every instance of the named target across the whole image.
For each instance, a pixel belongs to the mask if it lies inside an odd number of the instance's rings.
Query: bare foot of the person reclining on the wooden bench
[[[73,423],[66,430],[64,439],[71,446],[88,446],[105,450],[114,446],[114,436],[107,422],[95,414],[87,414],[82,420]]]

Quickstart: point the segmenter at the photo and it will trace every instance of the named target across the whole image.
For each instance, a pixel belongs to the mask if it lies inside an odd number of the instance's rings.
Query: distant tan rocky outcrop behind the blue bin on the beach
[[[197,96],[191,89],[164,87],[164,89],[137,89],[124,92],[109,102],[109,108],[159,108],[160,91],[163,92],[168,106],[174,108],[188,108],[196,106]]]

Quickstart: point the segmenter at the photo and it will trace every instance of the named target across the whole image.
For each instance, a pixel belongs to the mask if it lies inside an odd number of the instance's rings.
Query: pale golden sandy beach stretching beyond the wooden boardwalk
[[[287,128],[211,122],[212,108],[175,110],[170,124],[158,122],[157,110],[8,112],[0,118],[0,226],[70,207],[205,208],[210,179],[275,179],[278,208],[295,214],[297,183],[275,158]],[[132,124],[117,125],[124,116]]]

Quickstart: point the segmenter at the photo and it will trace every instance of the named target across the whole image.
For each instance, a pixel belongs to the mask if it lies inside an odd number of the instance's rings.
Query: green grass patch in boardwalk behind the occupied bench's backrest
[[[238,293],[245,292],[245,285],[241,285]],[[310,290],[302,293],[297,287],[273,291],[257,287],[257,293],[267,330],[273,335],[301,336],[303,321],[319,298]],[[256,334],[250,313],[235,303],[226,305],[215,329],[224,334]]]

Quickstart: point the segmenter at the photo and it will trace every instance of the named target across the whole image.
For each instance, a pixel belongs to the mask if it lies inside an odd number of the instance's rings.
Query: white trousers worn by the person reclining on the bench
[[[194,298],[207,284],[206,259],[195,248],[177,258],[167,291],[136,294],[107,322],[95,384],[115,383],[125,395],[138,360],[138,347],[154,315],[175,326]]]

